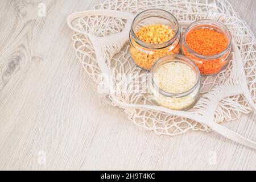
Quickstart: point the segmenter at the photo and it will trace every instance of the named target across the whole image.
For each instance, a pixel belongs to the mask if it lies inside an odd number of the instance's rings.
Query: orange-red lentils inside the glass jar
[[[210,28],[196,28],[195,30],[191,30],[185,39],[190,49],[203,56],[217,55],[225,51],[229,44],[228,37],[225,34]],[[228,63],[226,58],[230,52],[225,53],[218,59],[206,60],[192,55],[183,45],[183,53],[195,61],[201,75],[214,75],[220,72]]]

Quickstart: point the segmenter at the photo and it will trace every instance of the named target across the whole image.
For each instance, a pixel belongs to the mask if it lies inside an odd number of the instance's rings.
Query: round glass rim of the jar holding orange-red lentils
[[[201,24],[201,23],[204,23],[204,24]],[[193,51],[193,49],[191,49],[188,46],[188,43],[186,40],[187,34],[188,34],[188,32],[190,32],[191,30],[193,30],[193,28],[195,28],[197,26],[198,27],[200,27],[200,26],[207,27],[207,26],[211,26],[211,25],[214,25],[214,26],[220,28],[221,32],[227,36],[229,43],[228,43],[228,46],[224,49],[224,51],[217,53],[216,55],[201,55],[200,53]],[[224,56],[225,53],[227,53],[229,51],[229,49],[232,47],[232,35],[231,35],[231,32],[229,31],[228,27],[226,27],[223,23],[218,22],[213,19],[200,19],[200,20],[196,20],[195,22],[189,24],[189,26],[187,27],[187,29],[185,30],[184,35],[183,35],[183,43],[184,43],[185,47],[188,48],[188,52],[192,53],[194,56],[199,57],[201,59],[205,59],[205,60],[212,60],[212,59],[218,59],[218,58]]]

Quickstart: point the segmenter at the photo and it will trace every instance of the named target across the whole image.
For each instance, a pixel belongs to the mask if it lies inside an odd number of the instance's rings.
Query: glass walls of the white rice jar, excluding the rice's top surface
[[[154,75],[156,74],[156,71],[160,65],[169,63],[171,61],[187,64],[192,69],[192,71],[195,72],[196,83],[194,86],[192,86],[192,88],[183,93],[168,93],[159,88],[159,85],[156,84],[158,81],[154,80]],[[174,86],[179,86],[179,83]],[[153,65],[148,81],[151,101],[156,105],[167,107],[173,110],[188,110],[192,108],[199,100],[200,86],[200,71],[197,68],[197,65],[192,60],[183,55],[167,55],[160,58]]]

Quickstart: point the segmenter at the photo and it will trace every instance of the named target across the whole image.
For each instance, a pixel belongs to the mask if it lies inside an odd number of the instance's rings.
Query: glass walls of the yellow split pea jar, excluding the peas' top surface
[[[150,24],[163,24],[174,31],[174,36],[164,43],[150,44],[138,38],[136,32]],[[133,20],[130,30],[130,55],[142,69],[150,70],[160,57],[179,53],[180,26],[174,15],[162,9],[142,11]]]

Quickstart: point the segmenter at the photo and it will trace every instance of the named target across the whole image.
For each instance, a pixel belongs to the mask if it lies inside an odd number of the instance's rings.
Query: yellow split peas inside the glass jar
[[[171,40],[175,33],[164,24],[150,24],[140,28],[136,35],[145,43],[162,44]],[[131,57],[139,67],[147,70],[151,69],[155,61],[160,57],[179,52],[179,46],[174,50],[170,46],[163,49],[150,49],[139,46],[134,40],[132,40],[132,43],[133,46],[130,47]]]

